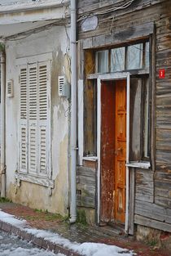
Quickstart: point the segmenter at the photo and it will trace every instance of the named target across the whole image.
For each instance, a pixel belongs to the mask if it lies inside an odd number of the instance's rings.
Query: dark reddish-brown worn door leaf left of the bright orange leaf
[[[101,221],[114,219],[115,87],[102,83],[101,91]]]

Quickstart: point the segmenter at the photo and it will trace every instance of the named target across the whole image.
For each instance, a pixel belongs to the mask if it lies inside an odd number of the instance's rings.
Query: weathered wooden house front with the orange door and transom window
[[[78,1],[77,204],[129,234],[171,232],[170,34],[168,0]]]

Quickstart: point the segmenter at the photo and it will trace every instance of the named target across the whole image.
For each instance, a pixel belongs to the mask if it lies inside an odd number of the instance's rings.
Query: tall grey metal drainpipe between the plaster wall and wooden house
[[[71,204],[70,223],[77,220],[76,159],[77,159],[77,45],[76,0],[71,0]]]

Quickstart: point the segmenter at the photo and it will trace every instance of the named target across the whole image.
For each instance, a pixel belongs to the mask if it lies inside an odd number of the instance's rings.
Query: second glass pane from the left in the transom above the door
[[[125,47],[111,50],[111,72],[125,70]]]

